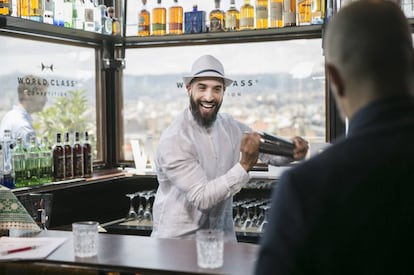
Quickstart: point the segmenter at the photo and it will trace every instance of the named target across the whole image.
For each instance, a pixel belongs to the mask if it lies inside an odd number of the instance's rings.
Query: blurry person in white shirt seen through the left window
[[[41,112],[47,102],[47,83],[34,75],[26,75],[19,80],[17,87],[19,103],[14,105],[1,120],[0,137],[4,130],[10,130],[13,140],[22,138],[26,147],[31,137],[36,137],[32,114]]]

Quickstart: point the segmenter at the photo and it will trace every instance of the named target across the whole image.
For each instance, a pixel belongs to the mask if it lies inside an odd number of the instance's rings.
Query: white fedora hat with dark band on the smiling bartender
[[[185,85],[188,85],[191,80],[197,77],[222,78],[226,87],[233,83],[232,79],[224,76],[224,68],[221,62],[211,55],[203,55],[194,61],[191,75],[183,77]]]

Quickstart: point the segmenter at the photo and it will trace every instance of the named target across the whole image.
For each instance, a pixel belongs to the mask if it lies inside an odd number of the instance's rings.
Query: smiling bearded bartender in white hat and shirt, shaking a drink
[[[211,55],[198,58],[183,77],[190,106],[161,135],[155,164],[159,187],[153,205],[153,237],[195,238],[199,229],[221,229],[236,241],[233,196],[260,159],[273,165],[303,159],[308,143],[294,137],[293,158],[259,154],[260,135],[219,113],[233,80]]]

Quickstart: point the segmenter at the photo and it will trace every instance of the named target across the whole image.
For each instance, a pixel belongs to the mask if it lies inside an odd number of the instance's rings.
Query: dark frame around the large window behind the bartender
[[[191,35],[168,35],[168,36],[150,36],[138,37],[128,36],[124,38],[124,43],[118,49],[125,56],[126,49],[134,48],[156,48],[171,46],[188,46],[188,45],[209,45],[209,44],[231,44],[231,43],[254,43],[265,41],[283,41],[293,39],[322,39],[321,47],[323,47],[324,25],[297,26],[277,29],[264,30],[248,30],[239,32],[223,32],[223,33],[200,33]],[[126,60],[126,62],[129,62]],[[119,72],[117,90],[119,96],[116,98],[116,116],[117,124],[117,156],[116,163],[121,167],[133,166],[133,161],[121,159],[123,145],[123,121],[121,110],[123,107],[122,98],[122,72]],[[334,142],[337,138],[345,133],[345,123],[341,120],[338,109],[330,93],[330,84],[325,71],[325,142]]]

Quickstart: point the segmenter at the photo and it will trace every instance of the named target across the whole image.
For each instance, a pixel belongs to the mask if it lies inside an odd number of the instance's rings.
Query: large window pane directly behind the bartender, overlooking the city
[[[126,50],[121,160],[130,141],[154,150],[162,131],[188,106],[182,76],[203,54],[217,57],[235,80],[221,112],[257,131],[325,142],[325,71],[321,39]]]

